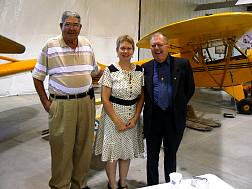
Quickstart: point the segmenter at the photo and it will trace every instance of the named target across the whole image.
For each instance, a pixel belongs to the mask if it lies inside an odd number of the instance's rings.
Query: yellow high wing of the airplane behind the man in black
[[[193,51],[193,47],[211,40],[235,37],[240,38],[251,29],[251,13],[221,13],[175,22],[163,26],[138,41],[139,48],[150,48],[152,34],[161,32],[169,39],[171,49],[178,53]]]

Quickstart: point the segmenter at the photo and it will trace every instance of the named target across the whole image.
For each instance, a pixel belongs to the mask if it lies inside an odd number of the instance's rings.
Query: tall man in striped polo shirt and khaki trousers
[[[49,113],[53,189],[89,189],[87,173],[92,156],[95,99],[92,74],[98,74],[89,41],[79,36],[81,18],[65,11],[62,34],[47,41],[33,70],[33,81]],[[49,98],[44,80],[49,75]]]

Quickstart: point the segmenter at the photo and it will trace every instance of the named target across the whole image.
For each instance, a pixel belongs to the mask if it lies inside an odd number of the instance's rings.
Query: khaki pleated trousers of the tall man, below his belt
[[[95,99],[51,99],[49,142],[53,189],[80,189],[87,184],[92,157]]]

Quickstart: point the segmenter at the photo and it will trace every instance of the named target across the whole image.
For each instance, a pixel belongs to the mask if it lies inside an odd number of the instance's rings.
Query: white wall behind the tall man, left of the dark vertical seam
[[[25,53],[8,56],[37,58],[45,41],[60,34],[62,13],[77,11],[82,18],[81,35],[92,42],[97,61],[111,64],[117,61],[119,35],[129,34],[137,40],[138,5],[138,0],[0,0],[0,34],[26,47]],[[34,91],[29,72],[0,78],[0,96]]]

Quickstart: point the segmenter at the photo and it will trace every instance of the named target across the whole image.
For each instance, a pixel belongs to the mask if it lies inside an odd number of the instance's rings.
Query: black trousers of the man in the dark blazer
[[[147,145],[147,184],[159,184],[159,153],[163,142],[165,181],[169,182],[169,174],[176,171],[176,153],[183,137],[177,133],[173,123],[172,110],[153,108],[151,132],[146,136]]]

